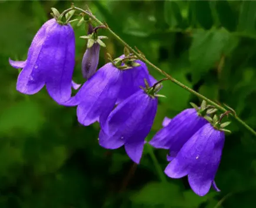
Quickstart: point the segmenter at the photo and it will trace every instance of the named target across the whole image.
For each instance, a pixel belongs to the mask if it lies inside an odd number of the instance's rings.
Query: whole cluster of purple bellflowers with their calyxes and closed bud
[[[56,17],[48,20],[34,37],[27,60],[9,60],[14,68],[22,68],[17,90],[35,94],[46,85],[49,95],[60,105],[77,106],[77,119],[82,125],[100,123],[99,144],[106,149],[124,146],[136,163],[143,154],[145,139],[156,116],[161,81],[150,75],[146,64],[126,48],[116,59],[98,68],[100,46],[105,46],[97,29],[90,23],[86,36],[87,49],[81,71],[86,82],[80,87],[72,80],[75,66],[75,36],[67,17],[53,10]],[[57,18],[58,17],[58,18]],[[71,96],[71,87],[79,89]],[[225,135],[221,118],[212,106],[202,102],[200,107],[180,112],[173,119],[163,120],[163,129],[149,142],[155,148],[168,149],[170,162],[165,174],[170,178],[188,175],[193,191],[202,196],[210,187],[219,191],[214,178],[219,166]]]

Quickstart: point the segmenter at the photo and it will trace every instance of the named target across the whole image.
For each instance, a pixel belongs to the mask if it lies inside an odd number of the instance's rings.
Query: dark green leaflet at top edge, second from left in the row
[[[213,17],[209,6],[209,1],[195,1],[196,19],[198,23],[205,29],[213,26]]]

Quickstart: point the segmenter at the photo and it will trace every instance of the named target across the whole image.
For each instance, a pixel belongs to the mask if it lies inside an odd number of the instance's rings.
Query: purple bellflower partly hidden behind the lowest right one
[[[163,129],[160,129],[149,143],[155,148],[169,149],[167,159],[170,161],[188,139],[206,123],[208,121],[199,116],[196,109],[183,110],[171,121],[165,122]]]

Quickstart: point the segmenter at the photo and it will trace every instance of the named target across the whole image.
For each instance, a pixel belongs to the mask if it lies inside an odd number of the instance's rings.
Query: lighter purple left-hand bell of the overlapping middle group
[[[122,82],[121,73],[112,63],[107,63],[83,84],[75,96],[80,100],[77,117],[81,124],[105,121],[115,106]]]

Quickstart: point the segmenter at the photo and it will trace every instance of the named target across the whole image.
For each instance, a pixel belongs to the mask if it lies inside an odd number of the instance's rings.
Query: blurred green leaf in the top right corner
[[[237,30],[255,32],[256,1],[242,1]]]

